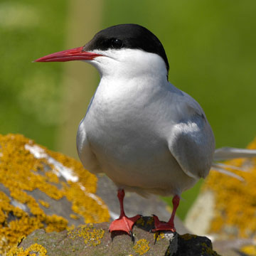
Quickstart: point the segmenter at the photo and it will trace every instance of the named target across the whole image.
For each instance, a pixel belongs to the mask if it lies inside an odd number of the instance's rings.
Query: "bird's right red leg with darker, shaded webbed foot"
[[[154,230],[152,230],[152,232],[164,231],[164,230],[171,230],[172,232],[176,232],[176,228],[174,227],[174,217],[175,217],[176,210],[178,208],[179,201],[180,201],[180,197],[178,195],[175,195],[172,200],[174,208],[168,223],[160,221],[159,218],[156,215],[154,215],[155,228]]]

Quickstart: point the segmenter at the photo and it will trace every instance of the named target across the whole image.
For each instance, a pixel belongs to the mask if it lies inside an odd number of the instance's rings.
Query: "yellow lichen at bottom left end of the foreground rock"
[[[42,245],[38,245],[37,243],[31,245],[26,250],[23,247],[17,248],[13,247],[9,252],[7,252],[6,256],[48,256],[46,255],[47,250]]]

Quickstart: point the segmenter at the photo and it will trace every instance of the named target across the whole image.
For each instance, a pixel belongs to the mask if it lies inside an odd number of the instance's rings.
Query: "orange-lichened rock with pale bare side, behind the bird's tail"
[[[256,139],[247,148],[256,149]],[[230,171],[244,181],[210,171],[200,196],[188,213],[186,225],[197,234],[210,234],[217,240],[227,240],[226,243],[239,241],[233,242],[234,250],[238,250],[249,240],[256,239],[256,158],[235,159],[225,164],[242,169]],[[253,253],[247,255],[256,255],[255,243],[250,245],[250,251]]]

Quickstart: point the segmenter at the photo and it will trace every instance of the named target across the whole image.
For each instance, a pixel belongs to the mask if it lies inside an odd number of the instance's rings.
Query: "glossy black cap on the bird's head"
[[[156,53],[164,59],[167,72],[169,63],[164,46],[159,38],[148,29],[137,24],[120,24],[105,28],[98,32],[92,40],[87,43],[83,50],[107,50],[110,48],[141,49],[149,53]]]

